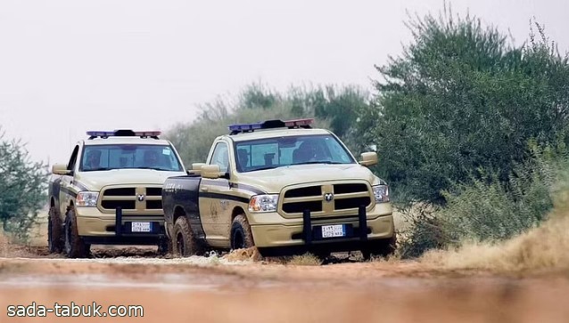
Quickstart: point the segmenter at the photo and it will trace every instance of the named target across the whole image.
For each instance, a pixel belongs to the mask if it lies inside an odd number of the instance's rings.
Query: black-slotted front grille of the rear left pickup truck
[[[157,214],[162,210],[161,187],[111,187],[101,194],[103,212],[114,213],[120,207],[127,214]]]

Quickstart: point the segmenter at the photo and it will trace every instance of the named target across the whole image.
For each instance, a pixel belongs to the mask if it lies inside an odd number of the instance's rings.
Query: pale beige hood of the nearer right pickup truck
[[[359,166],[358,164],[315,164],[278,167],[239,174],[238,182],[247,183],[268,193],[278,193],[289,185],[350,180],[363,180],[369,182],[370,185],[383,183],[367,167]]]

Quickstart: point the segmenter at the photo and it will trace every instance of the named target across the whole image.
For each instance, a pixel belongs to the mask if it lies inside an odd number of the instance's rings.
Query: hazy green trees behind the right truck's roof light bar
[[[253,84],[244,88],[234,104],[222,99],[206,103],[193,122],[174,125],[165,134],[187,167],[205,161],[211,142],[227,133],[227,125],[268,119],[316,117],[318,127],[332,130],[351,148],[357,111],[365,106],[367,93],[355,86],[292,87],[283,94]]]

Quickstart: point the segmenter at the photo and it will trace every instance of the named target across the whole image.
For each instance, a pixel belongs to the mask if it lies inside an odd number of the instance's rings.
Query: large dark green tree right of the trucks
[[[413,42],[376,67],[383,79],[357,124],[396,194],[441,203],[441,191],[479,169],[507,182],[530,139],[547,144],[566,132],[569,66],[545,37],[516,47],[497,28],[447,9],[408,27]]]

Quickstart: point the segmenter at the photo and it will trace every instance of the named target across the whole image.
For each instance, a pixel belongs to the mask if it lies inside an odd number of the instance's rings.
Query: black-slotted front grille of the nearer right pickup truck
[[[330,201],[326,200],[332,197]],[[286,190],[282,211],[291,216],[301,216],[309,210],[317,215],[345,215],[358,212],[359,206],[371,205],[371,188],[363,182],[330,183]]]

